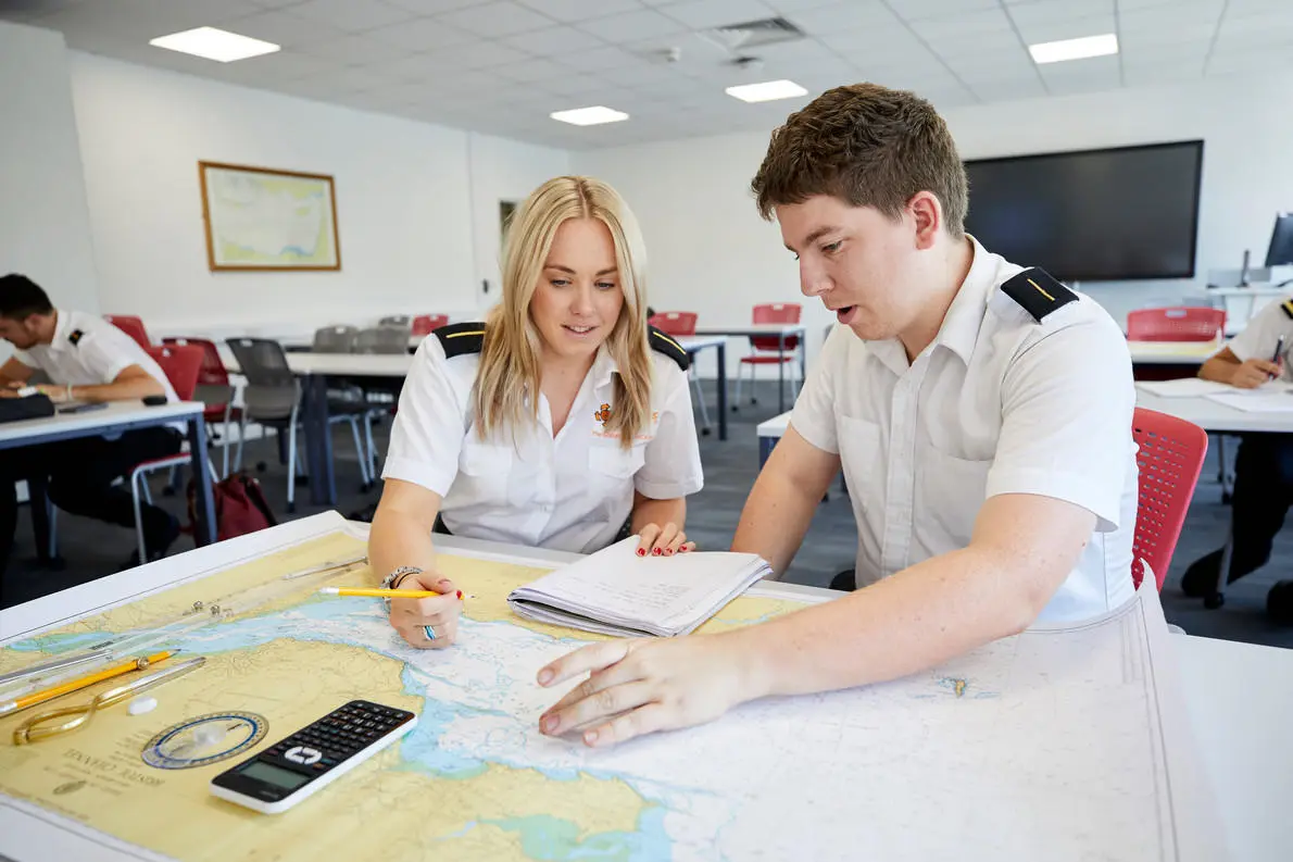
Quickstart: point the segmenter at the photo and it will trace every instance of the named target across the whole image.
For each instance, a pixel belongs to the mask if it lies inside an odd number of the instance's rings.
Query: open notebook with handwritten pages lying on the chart
[[[755,554],[637,557],[631,536],[533,584],[507,603],[520,616],[617,637],[689,634],[751,584],[772,575]]]

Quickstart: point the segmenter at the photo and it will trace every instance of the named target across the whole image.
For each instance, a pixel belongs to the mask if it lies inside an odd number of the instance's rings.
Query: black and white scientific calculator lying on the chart
[[[278,814],[317,793],[418,724],[405,709],[352,700],[211,779],[220,799]]]

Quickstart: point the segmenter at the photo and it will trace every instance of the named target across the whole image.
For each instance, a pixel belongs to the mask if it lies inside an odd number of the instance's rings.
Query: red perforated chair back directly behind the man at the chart
[[[1137,408],[1131,436],[1140,469],[1131,581],[1140,586],[1143,563],[1148,563],[1161,590],[1208,453],[1208,432],[1174,415]]]

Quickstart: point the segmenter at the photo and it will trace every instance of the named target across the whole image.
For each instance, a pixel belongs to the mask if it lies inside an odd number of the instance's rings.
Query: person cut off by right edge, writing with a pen
[[[1199,377],[1244,390],[1276,378],[1289,381],[1293,379],[1285,361],[1289,348],[1293,348],[1293,300],[1270,303],[1244,331],[1202,364]],[[1243,435],[1235,457],[1235,493],[1231,496],[1234,533],[1227,581],[1266,564],[1289,503],[1293,503],[1293,436]],[[1222,550],[1217,549],[1190,564],[1181,579],[1186,595],[1200,598],[1212,593],[1221,569]]]

